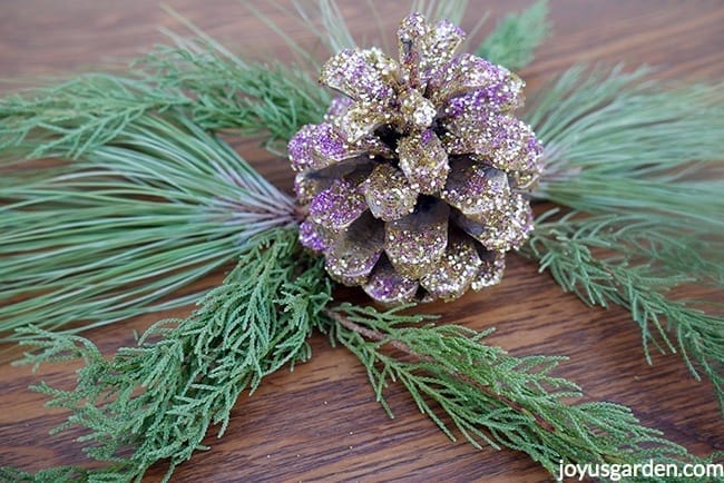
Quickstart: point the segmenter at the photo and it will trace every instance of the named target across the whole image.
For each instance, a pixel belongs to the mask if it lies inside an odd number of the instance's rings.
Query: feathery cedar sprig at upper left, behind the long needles
[[[215,43],[176,40],[125,76],[89,73],[1,99],[1,164],[77,159],[148,115],[180,111],[204,129],[263,132],[267,142],[285,142],[324,114],[329,95],[299,68],[239,63]]]

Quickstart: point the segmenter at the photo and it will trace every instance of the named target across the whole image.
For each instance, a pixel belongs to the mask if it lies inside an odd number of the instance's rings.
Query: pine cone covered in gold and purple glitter
[[[511,115],[525,83],[456,56],[458,27],[413,13],[398,38],[400,62],[348,49],[322,68],[343,97],[288,144],[300,239],[376,300],[449,300],[497,284],[505,253],[527,239],[542,148]]]

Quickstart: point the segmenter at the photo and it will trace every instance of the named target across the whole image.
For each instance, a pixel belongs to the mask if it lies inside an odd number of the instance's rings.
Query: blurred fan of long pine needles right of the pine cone
[[[721,86],[668,89],[648,72],[578,66],[534,98],[527,120],[546,161],[535,196],[722,237]]]

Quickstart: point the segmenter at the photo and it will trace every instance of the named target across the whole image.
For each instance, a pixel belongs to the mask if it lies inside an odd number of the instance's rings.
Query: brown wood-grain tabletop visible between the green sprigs
[[[376,1],[376,0],[375,0]],[[0,77],[57,75],[137,56],[163,40],[158,26],[182,27],[146,0],[4,1],[0,8]],[[238,2],[166,0],[174,9],[226,46],[288,59],[283,42],[260,26]],[[264,2],[255,2],[260,8]],[[356,2],[364,6],[365,2]],[[378,2],[387,31],[404,13],[401,3]],[[471,1],[463,27],[470,30],[489,9],[491,21],[525,1]],[[372,17],[355,2],[342,2],[351,29],[375,34]],[[685,80],[716,79],[724,73],[724,4],[721,0],[552,0],[555,36],[522,73],[530,91],[576,61],[627,66],[653,63],[659,76]],[[287,33],[304,45],[312,36],[300,24],[280,19]],[[254,142],[238,145],[243,155],[277,185],[288,189],[292,175]],[[1,225],[1,221],[0,221]],[[711,386],[695,382],[676,355],[643,357],[638,327],[619,309],[591,309],[565,295],[535,264],[509,256],[503,283],[452,304],[430,305],[443,321],[498,331],[489,338],[516,355],[566,354],[558,374],[583,385],[587,398],[632,406],[647,425],[706,454],[724,448],[724,425]],[[221,275],[204,280],[217,283]],[[359,297],[354,290],[344,296]],[[178,309],[140,317],[88,335],[109,354],[133,344],[131,329]],[[450,442],[413,406],[404,390],[388,395],[397,417],[389,420],[374,402],[366,376],[354,357],[327,342],[312,339],[313,358],[293,373],[268,377],[248,397],[242,395],[226,435],[209,435],[206,453],[178,467],[174,481],[508,481],[550,480],[525,454],[474,450]],[[45,398],[26,387],[40,377],[70,385],[77,366],[46,367],[37,376],[28,367],[0,366],[0,465],[33,471],[57,464],[87,464],[77,432],[48,436],[65,414],[43,408]],[[165,467],[147,475],[157,481]]]

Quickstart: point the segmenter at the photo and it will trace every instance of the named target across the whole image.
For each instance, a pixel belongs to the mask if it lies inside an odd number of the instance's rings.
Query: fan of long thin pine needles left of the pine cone
[[[177,122],[145,116],[76,162],[0,181],[2,335],[192,302],[157,305],[253,235],[295,224],[291,198],[224,141]]]

